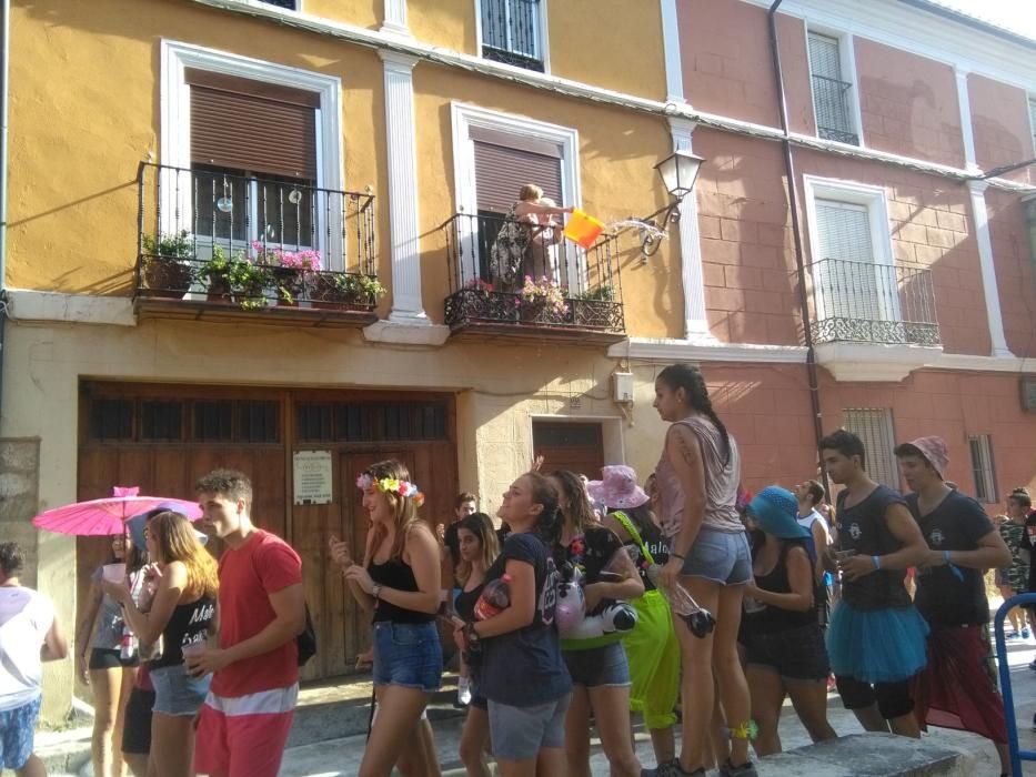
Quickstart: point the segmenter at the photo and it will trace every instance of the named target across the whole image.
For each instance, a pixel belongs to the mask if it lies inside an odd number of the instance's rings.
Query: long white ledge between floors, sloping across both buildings
[[[763,4],[758,2],[758,0],[744,1]],[[371,49],[384,49],[388,51],[409,54],[419,59],[428,60],[430,62],[435,62],[437,64],[460,68],[462,70],[500,79],[502,81],[520,83],[524,87],[539,89],[552,94],[586,100],[600,104],[616,105],[631,111],[648,113],[651,115],[687,119],[712,129],[722,130],[725,132],[734,132],[736,134],[748,135],[752,138],[761,138],[763,140],[784,140],[784,133],[776,127],[767,127],[751,121],[742,121],[731,117],[723,117],[716,113],[698,111],[687,102],[664,102],[660,100],[651,100],[648,98],[637,97],[634,94],[627,94],[624,92],[616,92],[611,89],[594,87],[592,84],[573,81],[571,79],[563,79],[556,75],[546,75],[544,73],[537,73],[533,70],[524,70],[522,68],[515,68],[510,64],[484,60],[480,57],[473,57],[471,54],[445,51],[426,43],[385,36],[378,32],[376,30],[368,30],[365,28],[345,24],[343,22],[330,21],[310,14],[283,11],[282,9],[278,9],[273,6],[262,8],[255,6],[245,6],[241,0],[191,0],[191,2],[198,6],[204,6],[207,8],[217,8],[232,13],[268,19],[295,29],[305,30],[308,32],[313,32],[320,36],[326,36],[336,40],[354,43],[356,46],[368,47]],[[770,3],[767,2],[765,4],[768,6]],[[782,6],[782,10],[783,9],[784,7]],[[974,72],[980,72],[980,69],[974,70]],[[1036,72],[1036,68],[1034,68],[1034,72]],[[1036,89],[1033,91],[1036,91]],[[876,151],[874,149],[862,149],[855,145],[849,145],[847,143],[821,140],[815,135],[806,135],[793,132],[791,134],[791,140],[795,145],[802,148],[824,151],[852,159],[881,161],[893,164],[895,167],[906,168],[917,172],[931,173],[933,175],[941,175],[957,181],[969,180],[975,175],[973,172],[963,170],[960,168],[937,164],[921,159],[911,159],[884,151]],[[1036,186],[1022,184],[1008,179],[990,179],[989,184],[1008,191],[1022,193],[1036,192]]]

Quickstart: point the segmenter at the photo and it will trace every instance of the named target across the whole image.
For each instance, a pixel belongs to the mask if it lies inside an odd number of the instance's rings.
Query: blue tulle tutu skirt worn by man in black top
[[[898,683],[925,668],[927,636],[913,606],[859,610],[839,602],[827,624],[827,656],[836,676]]]

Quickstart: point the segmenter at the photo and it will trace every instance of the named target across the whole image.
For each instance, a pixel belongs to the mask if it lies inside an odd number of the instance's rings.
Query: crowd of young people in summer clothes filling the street
[[[370,519],[362,555],[332,537],[330,556],[373,626],[376,707],[360,776],[437,774],[425,709],[441,686],[441,617],[463,652],[459,757],[473,777],[489,774],[490,755],[504,777],[589,776],[592,726],[613,775],[751,777],[750,748],[756,757],[782,748],[786,697],[814,741],[837,736],[826,715],[832,677],[866,730],[976,731],[1009,774],[983,575],[1005,569],[1004,585],[1018,591],[1034,541],[1012,526],[1029,523],[1019,517],[1027,494],[1012,495],[1018,515],[996,531],[944,481],[941,438],[896,447],[904,497],[867,475],[863,444],[842,430],[819,446],[841,486],[833,513],[817,481],[748,497],[737,442],[702,373],[672,365],[655,391],[670,427],[644,487],[627,466],[587,484],[540,472],[537,461],[502,496],[505,531],[465,493],[436,536],[402,463],[359,473]],[[202,527],[227,546],[218,566],[187,518],[160,507],[112,543],[113,558],[127,556],[125,579],[94,578],[78,634],[89,654],[77,658],[102,707],[95,774],[119,775],[123,759],[157,777],[273,777],[280,767],[305,627],[301,562],[252,525],[244,475],[215,471],[197,491]],[[46,602],[22,593],[17,554],[0,551],[0,644],[31,628],[42,657],[60,657]],[[677,601],[705,610],[707,627]],[[130,634],[138,647],[127,650]],[[39,659],[27,658],[17,693],[0,672],[0,716],[19,733],[6,735],[2,760],[32,777],[42,774],[30,757]],[[651,735],[652,768],[635,754],[631,713]]]

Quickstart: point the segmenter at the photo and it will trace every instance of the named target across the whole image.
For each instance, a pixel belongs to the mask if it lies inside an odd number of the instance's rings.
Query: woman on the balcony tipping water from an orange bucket
[[[555,242],[557,228],[553,216],[572,212],[553,203],[534,183],[522,186],[490,249],[490,273],[497,289],[513,291],[537,270],[550,276],[547,249]]]

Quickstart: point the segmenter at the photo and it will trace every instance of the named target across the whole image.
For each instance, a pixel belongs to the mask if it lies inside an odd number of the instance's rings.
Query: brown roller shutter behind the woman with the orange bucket
[[[561,198],[561,159],[557,157],[481,140],[475,140],[474,147],[480,211],[506,213],[526,183],[535,183],[559,205],[566,204]]]

